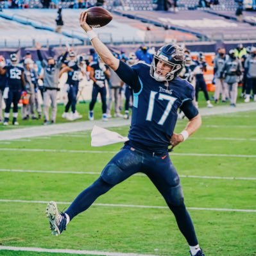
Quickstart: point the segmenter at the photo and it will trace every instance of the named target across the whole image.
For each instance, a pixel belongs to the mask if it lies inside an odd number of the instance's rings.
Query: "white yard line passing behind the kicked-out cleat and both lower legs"
[[[10,200],[10,199],[0,199],[0,203],[43,203],[47,204],[49,201],[37,201],[37,200]],[[58,201],[60,205],[70,205],[71,202]],[[98,207],[127,207],[127,208],[143,208],[143,209],[169,209],[166,206],[157,205],[124,205],[115,203],[94,203],[92,206]],[[189,210],[210,210],[217,212],[255,212],[254,209],[226,209],[226,208],[201,208],[201,207],[187,207]]]

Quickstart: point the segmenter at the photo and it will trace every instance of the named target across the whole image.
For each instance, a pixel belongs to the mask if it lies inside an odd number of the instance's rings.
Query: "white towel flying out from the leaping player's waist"
[[[111,132],[96,125],[93,126],[90,136],[92,137],[92,141],[90,142],[92,147],[100,147],[118,142],[129,141],[128,137],[123,137],[117,132]]]

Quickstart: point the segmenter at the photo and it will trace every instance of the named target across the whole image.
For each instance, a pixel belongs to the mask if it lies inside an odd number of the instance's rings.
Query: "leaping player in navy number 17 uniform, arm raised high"
[[[105,64],[133,89],[132,124],[129,141],[108,162],[98,180],[73,201],[65,213],[58,212],[51,201],[47,216],[53,235],[65,230],[67,223],[87,210],[105,192],[135,173],[145,173],[162,194],[175,215],[192,256],[203,256],[194,226],[183,201],[180,179],[168,154],[168,146],[185,141],[201,125],[198,110],[192,104],[194,88],[178,74],[183,68],[183,49],[173,44],[161,47],[151,65],[139,63],[129,67],[115,58],[86,23],[87,13],[80,15],[80,25]],[[177,110],[182,108],[189,121],[181,133],[174,133]]]

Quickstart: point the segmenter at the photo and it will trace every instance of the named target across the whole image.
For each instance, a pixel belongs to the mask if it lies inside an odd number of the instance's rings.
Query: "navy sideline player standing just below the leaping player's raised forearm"
[[[92,87],[92,100],[89,105],[89,120],[94,120],[94,105],[97,101],[98,94],[101,95],[102,102],[102,120],[108,121],[107,115],[107,89],[106,89],[106,79],[110,78],[110,70],[107,65],[101,60],[98,59],[97,62],[92,62],[90,64],[90,79],[93,81]]]

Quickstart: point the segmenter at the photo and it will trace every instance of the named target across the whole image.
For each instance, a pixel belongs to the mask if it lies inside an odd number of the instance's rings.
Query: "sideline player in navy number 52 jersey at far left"
[[[24,90],[24,69],[19,67],[18,56],[16,53],[10,55],[11,64],[5,67],[0,67],[0,74],[6,74],[7,85],[4,90],[8,92],[6,97],[6,108],[4,110],[4,125],[9,124],[10,108],[13,103],[12,124],[19,125],[18,117],[18,103],[21,99],[21,91]]]

